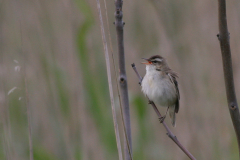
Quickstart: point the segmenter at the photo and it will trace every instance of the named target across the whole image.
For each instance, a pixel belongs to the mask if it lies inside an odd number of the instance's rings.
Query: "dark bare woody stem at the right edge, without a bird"
[[[230,48],[230,34],[227,27],[227,14],[226,14],[226,1],[218,0],[218,25],[219,34],[217,35],[223,62],[224,80],[228,101],[228,109],[232,118],[232,123],[235,129],[238,142],[238,152],[240,155],[240,114],[235,94],[234,80],[233,80],[233,69],[232,69],[232,58]]]

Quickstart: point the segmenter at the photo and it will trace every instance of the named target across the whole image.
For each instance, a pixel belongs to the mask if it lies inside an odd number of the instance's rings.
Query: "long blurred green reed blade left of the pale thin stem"
[[[90,6],[87,5],[87,2],[80,2],[81,3],[78,4],[78,6],[80,7],[81,12],[84,14],[85,20],[78,30],[77,46],[87,105],[91,112],[91,116],[94,118],[97,128],[100,131],[100,136],[103,144],[106,147],[106,150],[109,153],[116,154],[117,149],[113,130],[113,122],[109,121],[111,117],[109,114],[106,114],[109,113],[109,110],[111,109],[109,106],[109,98],[107,96],[108,90],[106,85],[106,71],[102,70],[103,66],[100,67],[101,64],[98,61],[100,59],[99,56],[103,55],[103,52],[97,51],[92,57],[89,55],[86,42],[87,35],[91,31],[91,28],[94,24],[94,18]],[[93,58],[97,59],[97,61],[94,61]],[[96,65],[99,66],[96,68],[96,70],[99,72],[93,72],[91,70],[90,65],[92,63],[96,63]],[[98,73],[101,73],[101,75]],[[105,109],[103,110],[103,108]],[[111,159],[110,154],[108,155],[107,159]]]

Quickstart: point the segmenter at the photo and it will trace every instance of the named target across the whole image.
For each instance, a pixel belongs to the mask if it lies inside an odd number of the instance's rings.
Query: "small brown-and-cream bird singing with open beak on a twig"
[[[155,55],[148,59],[143,58],[146,62],[146,75],[144,76],[141,86],[142,92],[157,105],[168,107],[172,125],[176,125],[175,113],[179,110],[180,94],[178,90],[177,74],[167,65],[166,59],[162,56]],[[162,121],[165,119],[163,116]]]

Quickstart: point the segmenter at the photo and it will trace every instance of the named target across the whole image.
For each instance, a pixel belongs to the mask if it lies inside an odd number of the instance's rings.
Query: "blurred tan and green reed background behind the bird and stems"
[[[106,3],[117,61],[115,6]],[[24,78],[35,160],[118,159],[96,6],[95,0],[1,1],[0,159],[29,159]],[[101,6],[107,29],[102,0]],[[227,1],[237,95],[239,10],[239,1]],[[180,142],[197,159],[238,159],[216,37],[217,1],[131,0],[123,14],[134,159],[188,159],[166,136],[131,69],[134,62],[143,76],[141,58],[154,54],[180,76],[176,128],[166,119]],[[123,140],[115,81],[114,92]]]

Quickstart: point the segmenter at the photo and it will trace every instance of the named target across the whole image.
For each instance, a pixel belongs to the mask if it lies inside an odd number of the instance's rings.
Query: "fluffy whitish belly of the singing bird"
[[[169,79],[144,78],[142,91],[150,100],[163,107],[174,105],[177,99],[175,87]]]

